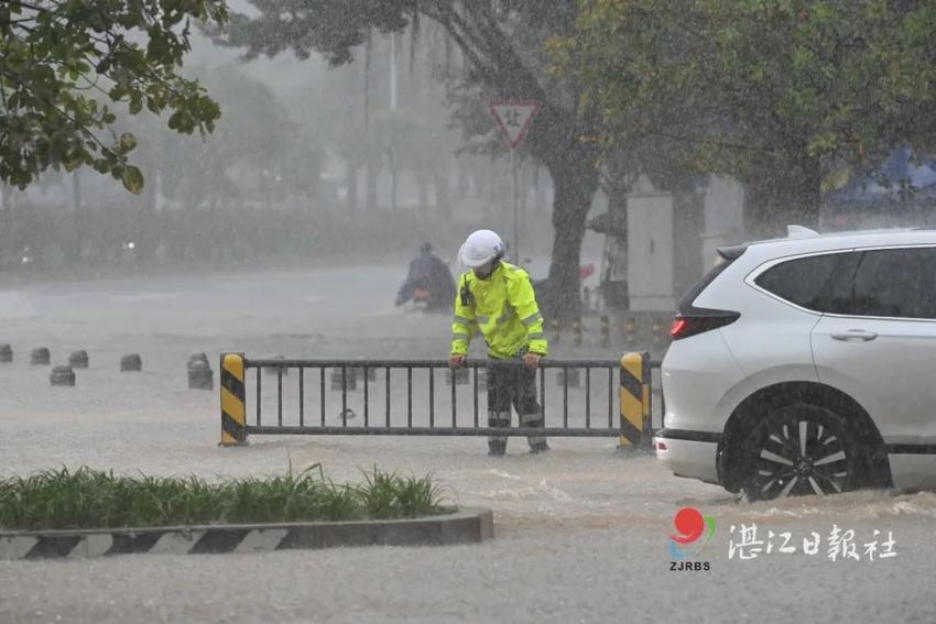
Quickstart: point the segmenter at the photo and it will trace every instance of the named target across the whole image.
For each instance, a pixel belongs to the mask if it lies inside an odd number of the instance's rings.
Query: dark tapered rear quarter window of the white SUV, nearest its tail
[[[758,275],[754,283],[797,306],[847,314],[851,303],[850,284],[861,254],[826,253],[790,260]]]

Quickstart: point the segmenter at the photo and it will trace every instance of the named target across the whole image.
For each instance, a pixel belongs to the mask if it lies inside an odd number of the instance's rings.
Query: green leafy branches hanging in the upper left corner
[[[204,92],[185,88],[179,68],[188,41],[174,24],[204,14],[224,20],[224,0],[35,4],[45,8],[25,10],[26,4],[0,0],[0,183],[22,187],[47,167],[74,171],[87,164],[139,193],[142,175],[123,164],[124,155],[137,145],[135,138],[124,133],[116,145],[101,146],[102,135],[119,134],[113,128],[118,118],[106,100],[127,102],[135,116],[142,112],[145,97],[151,109],[181,111],[175,124],[191,133],[202,122],[196,111]],[[10,23],[13,20],[15,25]],[[152,44],[149,48],[146,41]],[[88,84],[107,90],[100,91],[104,101]]]

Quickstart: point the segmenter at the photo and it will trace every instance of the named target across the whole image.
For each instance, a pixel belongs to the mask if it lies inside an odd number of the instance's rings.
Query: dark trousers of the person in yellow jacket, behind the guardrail
[[[519,358],[488,361],[488,426],[510,427],[511,405],[523,428],[544,427],[536,401],[536,370],[526,368]],[[546,442],[543,436],[529,436],[530,448]],[[491,436],[488,446],[493,452],[507,449],[505,436]]]

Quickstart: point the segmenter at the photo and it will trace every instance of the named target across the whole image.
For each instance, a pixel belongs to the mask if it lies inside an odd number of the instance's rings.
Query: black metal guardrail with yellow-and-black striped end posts
[[[620,437],[621,446],[649,446],[653,364],[646,353],[620,360],[543,360],[536,392],[545,427],[498,428],[487,426],[487,372],[522,366],[520,362],[468,361],[453,372],[439,360],[253,360],[226,353],[221,445],[247,444],[250,435],[533,435]],[[439,369],[448,386],[444,391],[436,387]],[[548,383],[552,371],[555,384]],[[264,394],[264,374],[275,384],[272,397]],[[255,403],[252,423],[248,395]],[[294,409],[284,408],[287,403]]]

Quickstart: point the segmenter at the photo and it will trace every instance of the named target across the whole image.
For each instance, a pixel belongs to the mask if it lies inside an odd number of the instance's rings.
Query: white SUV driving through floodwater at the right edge
[[[750,499],[936,486],[936,231],[719,254],[673,324],[659,460]]]

